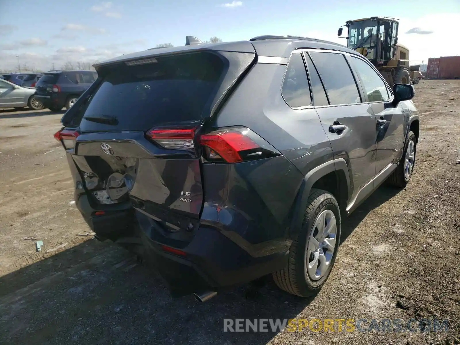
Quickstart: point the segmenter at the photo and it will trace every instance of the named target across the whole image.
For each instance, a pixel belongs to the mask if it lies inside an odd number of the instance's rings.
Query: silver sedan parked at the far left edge
[[[22,110],[29,107],[32,110],[43,109],[43,104],[34,97],[35,88],[18,86],[0,79],[0,108]]]

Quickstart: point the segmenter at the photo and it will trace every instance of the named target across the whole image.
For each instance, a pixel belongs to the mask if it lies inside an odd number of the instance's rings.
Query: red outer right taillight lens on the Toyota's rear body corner
[[[242,162],[241,151],[259,148],[258,144],[239,131],[204,134],[200,137],[200,144],[212,150],[208,155],[217,154],[228,163]]]

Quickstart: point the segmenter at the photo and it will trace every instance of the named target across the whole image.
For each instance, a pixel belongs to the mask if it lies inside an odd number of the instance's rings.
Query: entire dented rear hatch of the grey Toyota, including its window
[[[254,57],[191,49],[101,67],[62,119],[76,131],[68,152],[93,202],[129,200],[150,223],[192,230],[203,203],[195,133]]]

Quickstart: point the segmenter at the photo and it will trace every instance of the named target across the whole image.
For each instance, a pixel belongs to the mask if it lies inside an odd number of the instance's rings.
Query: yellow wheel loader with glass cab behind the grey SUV
[[[398,25],[398,19],[390,17],[349,20],[337,35],[342,36],[346,26],[347,46],[367,57],[390,86],[417,84],[419,70],[409,68],[409,50],[398,43]]]

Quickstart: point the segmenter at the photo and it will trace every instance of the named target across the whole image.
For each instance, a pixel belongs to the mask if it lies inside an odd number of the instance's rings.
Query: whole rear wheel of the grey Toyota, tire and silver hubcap
[[[340,211],[334,196],[313,189],[304,222],[289,250],[288,264],[273,273],[276,285],[293,295],[317,293],[331,273],[340,242]]]

